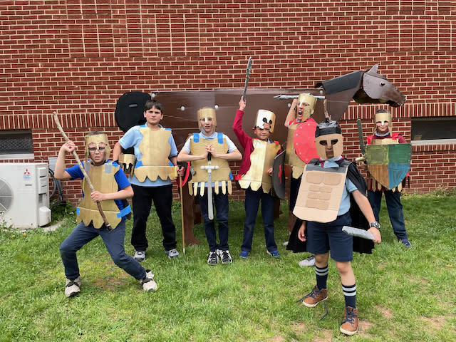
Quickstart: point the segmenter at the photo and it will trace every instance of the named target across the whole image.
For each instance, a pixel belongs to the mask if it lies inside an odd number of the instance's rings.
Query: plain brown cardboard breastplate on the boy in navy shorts
[[[348,167],[309,163],[303,173],[293,214],[305,221],[327,223],[337,218]]]

